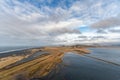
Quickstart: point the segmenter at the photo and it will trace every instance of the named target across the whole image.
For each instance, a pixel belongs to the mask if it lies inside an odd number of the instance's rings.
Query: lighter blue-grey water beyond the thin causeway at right
[[[120,65],[120,48],[89,48],[89,56]]]

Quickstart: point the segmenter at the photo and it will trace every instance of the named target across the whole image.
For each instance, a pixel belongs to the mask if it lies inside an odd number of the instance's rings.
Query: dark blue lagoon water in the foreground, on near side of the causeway
[[[120,67],[70,52],[43,80],[120,80]]]

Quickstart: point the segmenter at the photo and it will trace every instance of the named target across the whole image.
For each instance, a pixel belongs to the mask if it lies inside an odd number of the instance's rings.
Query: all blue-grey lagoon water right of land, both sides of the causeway
[[[104,60],[120,63],[119,49],[92,48],[89,56],[69,52],[64,55],[57,69],[52,70],[43,80],[120,80],[120,66]],[[97,58],[104,59],[99,60]],[[116,59],[117,58],[117,59]],[[115,60],[115,61],[114,61]],[[116,62],[117,61],[117,62]],[[42,80],[36,79],[36,80]]]

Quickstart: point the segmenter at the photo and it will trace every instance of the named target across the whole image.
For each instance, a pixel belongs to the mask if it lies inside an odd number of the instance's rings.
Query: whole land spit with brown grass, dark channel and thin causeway
[[[109,66],[117,67],[116,64],[113,64],[109,61],[102,60],[97,57],[90,57],[89,55],[91,55],[91,51],[89,50],[89,48],[108,49],[112,47],[48,46],[10,52],[17,55],[7,57],[4,56],[4,58],[6,58],[7,60],[7,58],[9,57],[9,59],[16,59],[16,61],[12,63],[8,62],[4,67],[0,69],[0,80],[19,80],[18,78],[22,78],[21,80],[36,80],[35,78],[41,79],[48,74],[52,75],[51,71],[54,72],[54,69],[56,69],[57,71],[59,70],[59,64],[63,62],[64,55],[69,52],[81,57],[86,57],[88,60],[93,59],[98,64],[99,62],[101,62]]]

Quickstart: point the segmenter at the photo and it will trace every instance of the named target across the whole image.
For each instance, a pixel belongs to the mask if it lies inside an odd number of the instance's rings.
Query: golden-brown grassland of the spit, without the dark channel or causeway
[[[16,66],[13,66],[12,64],[16,64],[18,61],[24,59],[24,58],[29,58],[30,55],[32,54],[36,54],[37,52],[48,52],[48,54],[43,54],[41,56],[39,56],[38,58],[35,58],[33,60],[18,64]],[[16,76],[18,76],[21,73],[26,73],[25,78],[27,79],[32,79],[36,76],[42,77],[47,75],[54,67],[56,67],[56,65],[58,63],[60,63],[62,57],[64,56],[64,54],[66,52],[76,52],[78,54],[88,54],[89,51],[85,48],[79,48],[79,47],[44,47],[44,48],[37,48],[37,49],[29,49],[27,51],[23,51],[23,52],[29,52],[29,54],[27,55],[22,55],[24,57],[19,56],[9,56],[6,57],[6,65],[4,65],[1,69],[0,69],[0,79],[1,80],[17,80],[15,79]],[[4,57],[5,58],[5,57]],[[16,59],[15,62],[11,62],[8,59],[12,59],[14,60],[14,58]],[[8,61],[8,63],[7,63]],[[38,63],[39,62],[39,63]],[[2,65],[3,63],[1,62],[0,65]],[[36,64],[36,65],[35,65]],[[48,64],[48,65],[47,65]],[[29,68],[28,68],[29,67]],[[40,69],[37,69],[37,67],[41,67]],[[37,74],[38,71],[40,71],[40,75]],[[47,69],[47,71],[46,71]],[[26,71],[24,71],[26,70]],[[33,75],[33,72],[36,73],[35,75]],[[17,73],[17,75],[16,75]],[[12,75],[11,75],[12,74]]]

